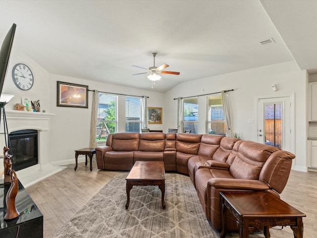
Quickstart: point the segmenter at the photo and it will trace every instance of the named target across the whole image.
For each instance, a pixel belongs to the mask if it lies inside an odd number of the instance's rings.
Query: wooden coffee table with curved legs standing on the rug
[[[162,207],[165,209],[165,169],[163,161],[136,161],[127,178],[127,203],[125,209],[130,205],[130,190],[134,185],[148,186],[158,185],[162,192]]]

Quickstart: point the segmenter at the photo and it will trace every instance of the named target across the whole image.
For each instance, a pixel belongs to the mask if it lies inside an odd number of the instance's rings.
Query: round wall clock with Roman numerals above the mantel
[[[17,63],[13,66],[12,79],[14,84],[21,90],[29,90],[34,83],[33,73],[24,63]]]

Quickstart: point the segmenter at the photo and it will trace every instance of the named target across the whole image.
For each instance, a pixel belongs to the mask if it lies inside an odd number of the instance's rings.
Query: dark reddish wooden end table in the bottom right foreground
[[[269,238],[269,228],[290,226],[295,238],[303,238],[305,214],[267,191],[220,192],[222,231],[226,237],[226,211],[232,212],[239,226],[240,238],[248,238],[257,227],[264,227]]]

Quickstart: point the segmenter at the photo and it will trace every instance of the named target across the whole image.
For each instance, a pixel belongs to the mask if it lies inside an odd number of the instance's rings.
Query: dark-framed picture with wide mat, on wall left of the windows
[[[88,86],[57,81],[56,106],[88,108]]]

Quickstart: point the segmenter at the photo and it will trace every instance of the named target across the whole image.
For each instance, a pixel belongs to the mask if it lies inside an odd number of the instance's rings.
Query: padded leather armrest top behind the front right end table
[[[251,179],[226,179],[226,178],[212,178],[208,180],[209,188],[215,187],[217,189],[239,189],[239,190],[268,190],[269,187],[260,180]]]

